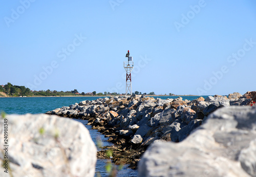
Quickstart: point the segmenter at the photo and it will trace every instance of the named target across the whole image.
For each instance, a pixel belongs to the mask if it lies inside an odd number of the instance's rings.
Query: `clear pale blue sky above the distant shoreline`
[[[256,2],[1,1],[0,84],[31,90],[255,91]]]

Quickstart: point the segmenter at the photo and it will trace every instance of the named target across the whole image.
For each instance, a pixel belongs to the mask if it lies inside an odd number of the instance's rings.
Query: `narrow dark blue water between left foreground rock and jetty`
[[[100,132],[96,129],[92,129],[91,125],[87,125],[88,120],[81,120],[81,119],[74,119],[78,122],[81,122],[84,126],[87,127],[87,129],[90,131],[90,135],[92,137],[93,142],[96,145],[97,139],[100,139],[102,141],[102,146],[112,146],[113,144],[108,142],[108,138],[105,138],[104,135],[101,135]],[[98,148],[98,150],[101,150]],[[97,159],[96,163],[96,169],[95,169],[95,176],[97,176],[97,172],[100,172],[100,175],[108,176],[109,174],[106,172],[105,166],[108,160],[106,159]],[[112,165],[114,165],[112,163]],[[117,172],[117,176],[138,176],[138,171],[128,168],[129,165],[124,165],[123,168]]]

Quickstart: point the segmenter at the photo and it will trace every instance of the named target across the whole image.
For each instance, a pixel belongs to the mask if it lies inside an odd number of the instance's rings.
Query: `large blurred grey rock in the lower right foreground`
[[[139,176],[256,176],[256,107],[223,107],[180,143],[156,142]]]

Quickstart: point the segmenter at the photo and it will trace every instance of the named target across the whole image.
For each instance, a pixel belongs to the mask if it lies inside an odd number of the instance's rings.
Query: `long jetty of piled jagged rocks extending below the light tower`
[[[56,108],[47,114],[87,119],[89,125],[114,143],[105,148],[113,150],[112,160],[116,164],[130,163],[131,167],[136,167],[141,154],[154,142],[182,142],[215,110],[250,105],[255,95],[256,92],[233,93],[227,97],[215,95],[191,101],[182,97],[162,100],[143,95],[106,97]],[[107,158],[105,152],[99,151],[98,158]]]

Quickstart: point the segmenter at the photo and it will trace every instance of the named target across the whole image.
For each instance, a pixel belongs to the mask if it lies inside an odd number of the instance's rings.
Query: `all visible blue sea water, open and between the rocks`
[[[183,100],[194,100],[200,96],[182,96]],[[204,98],[208,96],[202,96]],[[6,114],[39,114],[46,113],[49,110],[53,110],[62,106],[69,106],[71,104],[79,103],[83,100],[96,100],[98,98],[104,97],[8,97],[0,98],[0,112],[5,112]],[[154,98],[178,98],[178,96],[155,96]],[[87,120],[78,120],[86,126],[90,135],[96,143],[96,139],[100,138],[102,140],[103,146],[112,145],[108,141],[108,138],[104,138],[103,135],[97,130],[91,129],[90,125],[87,125]],[[99,149],[100,150],[100,149]],[[105,170],[106,160],[99,159],[96,164],[96,172],[98,171],[101,176],[108,176]],[[97,176],[97,173],[95,173]],[[138,171],[128,168],[128,165],[124,165],[123,169],[118,171],[117,176],[138,176]]]

